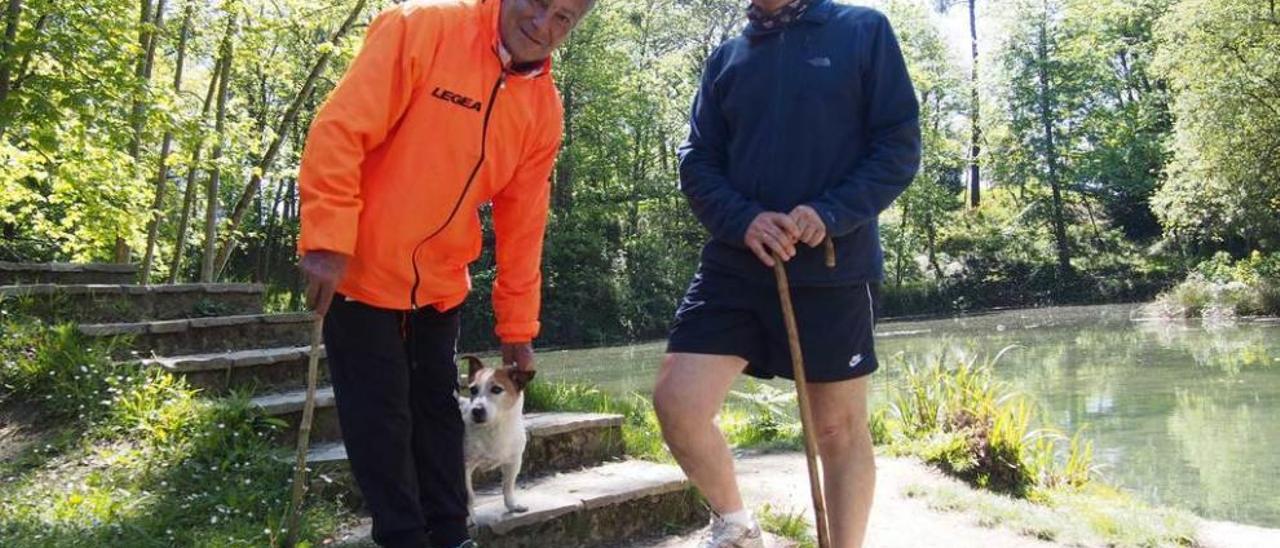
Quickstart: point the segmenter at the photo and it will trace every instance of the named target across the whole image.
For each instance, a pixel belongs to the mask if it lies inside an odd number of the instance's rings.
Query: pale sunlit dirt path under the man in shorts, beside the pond
[[[1059,544],[1024,536],[1011,529],[986,528],[977,517],[961,512],[929,510],[922,498],[904,494],[910,485],[956,484],[933,469],[908,458],[877,457],[876,506],[867,534],[868,548],[1014,548],[1055,547]],[[809,481],[800,453],[765,455],[737,461],[742,496],[751,508],[768,503],[781,512],[804,512],[810,520]],[[696,545],[704,531],[641,544],[644,548],[686,548]],[[769,539],[772,547],[791,545]],[[1280,547],[1280,530],[1238,524],[1208,522],[1201,528],[1206,548]],[[640,548],[640,547],[636,547]]]

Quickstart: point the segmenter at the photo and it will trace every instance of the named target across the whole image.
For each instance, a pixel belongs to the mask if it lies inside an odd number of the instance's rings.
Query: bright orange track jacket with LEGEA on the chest
[[[534,77],[504,70],[499,6],[416,0],[374,19],[307,134],[298,251],[348,255],[338,291],[392,310],[411,307],[416,265],[416,303],[448,310],[471,288],[477,210],[492,202],[497,334],[517,343],[539,330],[563,108],[549,61]]]

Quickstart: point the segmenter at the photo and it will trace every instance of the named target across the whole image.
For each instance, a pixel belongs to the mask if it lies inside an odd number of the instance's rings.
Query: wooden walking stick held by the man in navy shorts
[[[828,237],[823,242],[827,255],[827,268],[836,268],[836,247]],[[796,382],[796,399],[800,401],[800,430],[804,433],[804,456],[809,463],[809,492],[813,494],[813,512],[818,529],[818,547],[831,547],[831,533],[827,529],[827,501],[822,494],[822,478],[818,475],[818,440],[813,433],[813,408],[809,407],[809,387],[804,375],[804,355],[800,352],[800,332],[796,329],[796,312],[791,306],[791,286],[787,283],[787,268],[782,260],[773,256],[773,275],[778,280],[778,298],[782,301],[782,319],[787,325],[787,343],[791,346],[791,373]]]

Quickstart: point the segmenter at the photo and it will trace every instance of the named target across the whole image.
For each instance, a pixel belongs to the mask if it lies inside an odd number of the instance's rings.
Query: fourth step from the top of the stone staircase
[[[232,389],[287,389],[306,384],[311,346],[246,350],[237,352],[196,353],[188,356],[151,357],[142,362],[184,376],[191,385],[209,393]],[[328,382],[329,366],[320,347],[320,382]]]

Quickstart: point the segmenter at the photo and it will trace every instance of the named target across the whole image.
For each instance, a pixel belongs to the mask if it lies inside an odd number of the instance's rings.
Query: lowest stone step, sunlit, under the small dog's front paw
[[[500,489],[476,493],[472,535],[485,548],[618,547],[707,524],[701,498],[680,469],[644,461],[613,462],[521,481],[509,513]],[[334,545],[369,545],[367,520]]]

